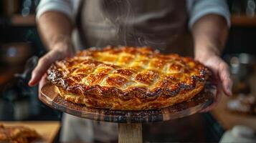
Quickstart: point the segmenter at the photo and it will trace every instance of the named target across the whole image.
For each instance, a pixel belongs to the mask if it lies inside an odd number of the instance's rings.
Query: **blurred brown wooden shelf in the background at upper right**
[[[232,15],[232,26],[256,26],[256,16]]]

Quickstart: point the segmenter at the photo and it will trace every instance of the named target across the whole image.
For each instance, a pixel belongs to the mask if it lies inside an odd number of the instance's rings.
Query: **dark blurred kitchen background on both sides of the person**
[[[143,124],[144,142],[219,142],[224,132],[236,125],[256,129],[256,1],[227,3],[232,15],[222,58],[232,73],[234,96],[223,96],[211,112]],[[35,22],[38,4],[39,0],[0,2],[0,121],[4,123],[60,124],[62,119],[62,112],[43,104],[37,97],[37,87],[27,84],[39,57],[46,53]],[[252,110],[237,109],[238,100],[254,102]],[[60,130],[53,142],[59,142],[59,137]]]

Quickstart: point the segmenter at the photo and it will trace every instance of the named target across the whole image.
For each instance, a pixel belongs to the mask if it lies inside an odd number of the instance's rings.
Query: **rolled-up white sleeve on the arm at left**
[[[37,6],[37,19],[46,11],[59,11],[75,21],[80,0],[41,0]]]

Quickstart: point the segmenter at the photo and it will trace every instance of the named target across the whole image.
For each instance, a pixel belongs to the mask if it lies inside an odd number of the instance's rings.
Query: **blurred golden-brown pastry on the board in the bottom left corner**
[[[0,142],[27,143],[38,137],[39,134],[34,129],[22,126],[4,127],[0,124]]]

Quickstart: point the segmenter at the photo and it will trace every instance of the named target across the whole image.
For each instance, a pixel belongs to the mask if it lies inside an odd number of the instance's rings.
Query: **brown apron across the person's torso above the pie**
[[[85,0],[78,16],[86,47],[152,46],[163,51],[181,48],[174,44],[187,20],[185,0]]]

